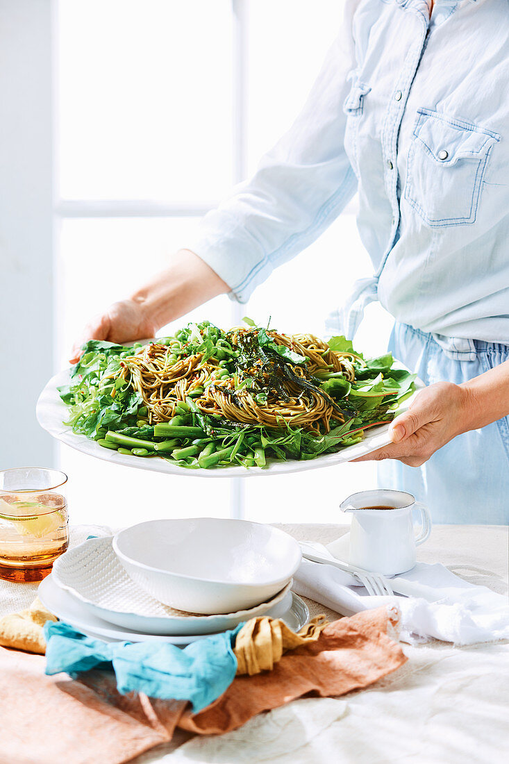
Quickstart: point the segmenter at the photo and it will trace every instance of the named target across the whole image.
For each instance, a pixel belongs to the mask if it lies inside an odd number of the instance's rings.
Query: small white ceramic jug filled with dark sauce
[[[412,494],[401,490],[363,490],[340,505],[352,513],[350,559],[352,565],[384,575],[409,571],[416,563],[416,546],[431,533],[430,513]],[[365,509],[365,507],[388,507]],[[422,528],[415,533],[413,510],[420,510]]]

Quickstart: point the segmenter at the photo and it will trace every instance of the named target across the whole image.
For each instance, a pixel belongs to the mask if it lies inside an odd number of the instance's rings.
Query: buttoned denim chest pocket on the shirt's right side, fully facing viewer
[[[458,119],[417,110],[404,198],[427,225],[475,222],[491,147],[500,136]]]

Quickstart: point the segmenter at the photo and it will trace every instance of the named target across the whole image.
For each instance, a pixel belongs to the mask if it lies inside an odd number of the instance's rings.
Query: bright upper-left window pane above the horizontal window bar
[[[61,0],[60,194],[218,199],[232,184],[229,0]]]

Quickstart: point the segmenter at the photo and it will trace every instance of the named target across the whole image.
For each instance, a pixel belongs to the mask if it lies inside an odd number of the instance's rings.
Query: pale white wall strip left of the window
[[[51,2],[0,2],[0,469],[50,466],[35,403],[53,373]]]

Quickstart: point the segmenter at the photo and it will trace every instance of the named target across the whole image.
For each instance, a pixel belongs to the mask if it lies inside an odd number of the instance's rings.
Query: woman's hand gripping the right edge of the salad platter
[[[452,382],[437,382],[417,394],[408,411],[391,422],[391,445],[355,461],[399,459],[420,467],[439,448],[469,429],[469,393]]]

